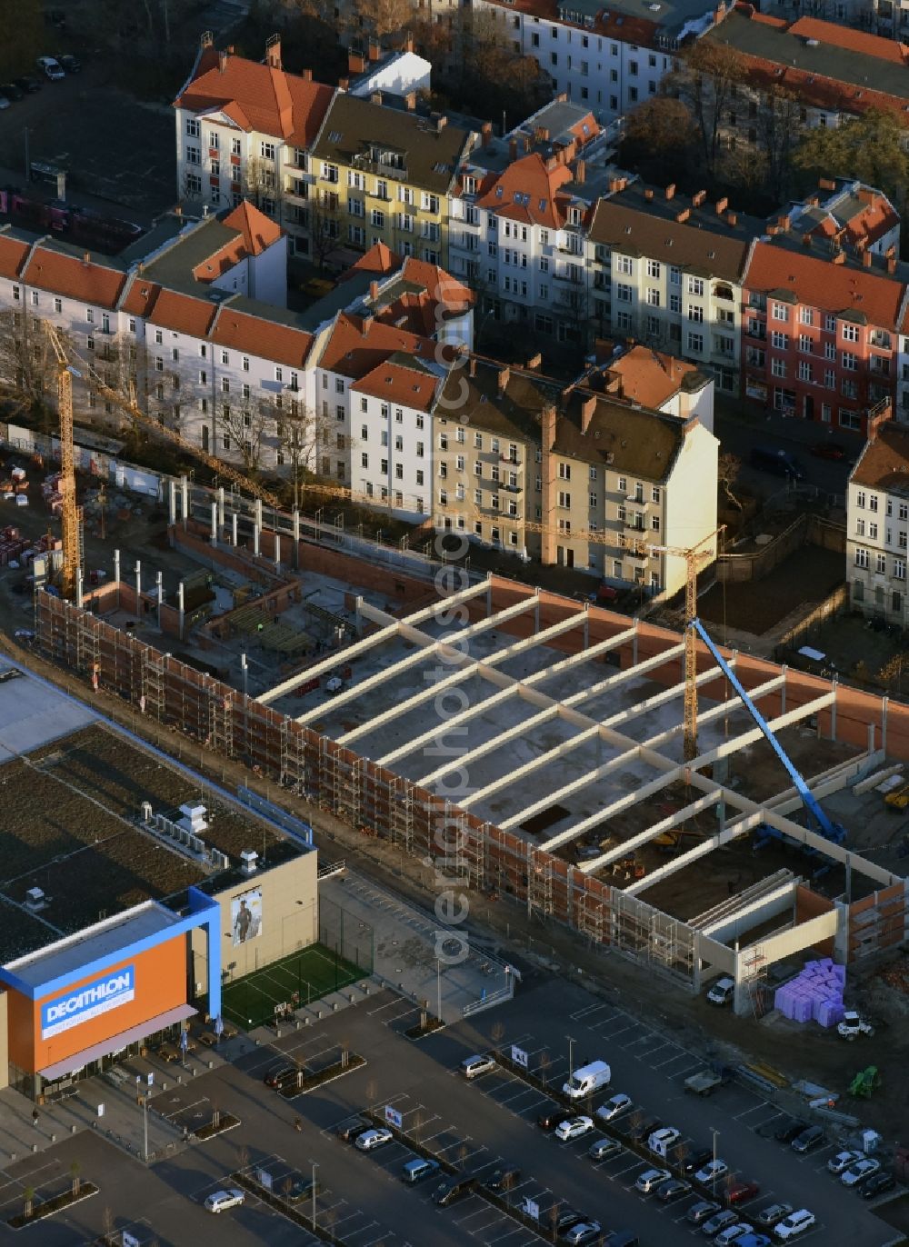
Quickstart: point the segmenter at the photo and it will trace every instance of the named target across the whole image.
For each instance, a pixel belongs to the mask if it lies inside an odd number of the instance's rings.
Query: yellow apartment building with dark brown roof
[[[347,268],[384,243],[448,267],[450,196],[475,141],[440,113],[335,95],[309,166],[312,223],[328,263]]]

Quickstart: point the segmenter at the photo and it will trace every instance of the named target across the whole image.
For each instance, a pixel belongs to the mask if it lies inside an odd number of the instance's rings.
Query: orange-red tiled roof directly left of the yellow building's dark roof
[[[175,106],[191,112],[219,108],[236,125],[308,147],[332,102],[334,89],[308,82],[297,74],[207,49],[196,77],[177,96]]]

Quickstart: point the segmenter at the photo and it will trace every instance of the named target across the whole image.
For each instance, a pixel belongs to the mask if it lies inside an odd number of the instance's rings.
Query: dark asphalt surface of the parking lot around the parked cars
[[[217,1102],[234,1112],[241,1126],[209,1143],[193,1146],[148,1171],[137,1161],[95,1136],[77,1136],[51,1152],[30,1157],[7,1170],[0,1186],[0,1215],[21,1206],[21,1187],[46,1181],[47,1188],[66,1183],[75,1156],[82,1176],[99,1181],[101,1195],[55,1217],[41,1230],[47,1247],[82,1243],[97,1235],[110,1208],[115,1225],[136,1233],[140,1242],[155,1237],[162,1247],[208,1242],[217,1225],[218,1242],[226,1247],[268,1243],[305,1243],[310,1236],[259,1201],[248,1200],[238,1210],[213,1222],[202,1203],[226,1185],[239,1165],[264,1168],[281,1190],[288,1175],[309,1176],[318,1165],[323,1193],[318,1200],[322,1225],[332,1225],[350,1247],[423,1247],[426,1242],[478,1247],[531,1247],[536,1235],[500,1213],[479,1196],[469,1196],[449,1208],[430,1200],[431,1182],[405,1187],[400,1168],[409,1153],[399,1143],[370,1155],[339,1142],[334,1126],[367,1105],[393,1105],[406,1129],[416,1129],[421,1142],[470,1172],[514,1161],[522,1170],[520,1195],[542,1205],[561,1200],[576,1206],[607,1228],[635,1228],[646,1247],[676,1247],[702,1238],[685,1221],[693,1196],[661,1205],[633,1191],[645,1167],[631,1153],[592,1165],[590,1142],[559,1143],[544,1134],[535,1119],[545,1100],[521,1080],[498,1071],[474,1084],[458,1074],[460,1060],[496,1041],[520,1044],[531,1067],[546,1051],[547,1074],[561,1084],[569,1064],[569,1036],[574,1060],[602,1057],[612,1065],[612,1086],[626,1091],[647,1112],[680,1127],[695,1143],[709,1146],[718,1132],[718,1153],[744,1177],[761,1183],[761,1195],[742,1207],[743,1218],[772,1200],[807,1206],[818,1216],[817,1227],[802,1242],[848,1242],[850,1247],[882,1247],[893,1230],[873,1210],[825,1171],[833,1143],[798,1157],[791,1148],[763,1137],[781,1114],[776,1105],[737,1085],[723,1087],[709,1100],[686,1096],[688,1074],[703,1067],[667,1034],[641,1025],[616,1005],[605,1005],[581,989],[559,980],[537,979],[516,999],[483,1014],[476,1023],[459,1024],[420,1044],[400,1031],[415,1020],[413,1006],[382,993],[357,1009],[333,1015],[276,1041],[281,1052],[318,1062],[324,1054],[347,1042],[368,1057],[368,1065],[317,1092],[286,1101],[268,1091],[263,1070],[276,1051],[261,1047],[234,1066],[193,1080],[200,1114]],[[182,1110],[186,1111],[186,1110]],[[301,1129],[294,1129],[294,1117]]]

